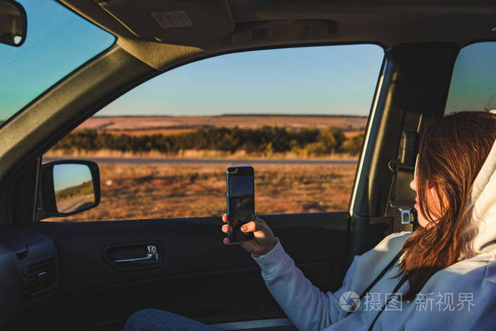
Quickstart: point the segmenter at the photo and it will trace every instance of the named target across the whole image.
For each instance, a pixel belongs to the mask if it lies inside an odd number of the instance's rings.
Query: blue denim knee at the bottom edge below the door
[[[158,309],[142,309],[130,316],[123,331],[137,330],[178,330],[218,331],[209,325]]]

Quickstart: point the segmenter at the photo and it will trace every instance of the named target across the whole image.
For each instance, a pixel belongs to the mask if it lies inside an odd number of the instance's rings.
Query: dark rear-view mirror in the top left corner
[[[28,18],[23,6],[14,0],[0,0],[0,43],[19,47],[26,40]]]

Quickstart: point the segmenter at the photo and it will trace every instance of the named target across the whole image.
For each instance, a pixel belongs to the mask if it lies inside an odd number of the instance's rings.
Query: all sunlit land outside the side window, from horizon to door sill
[[[344,211],[365,125],[361,116],[90,118],[45,159],[97,159],[101,204],[48,220],[219,216],[226,211],[225,170],[243,159],[268,162],[252,164],[257,213]],[[133,161],[143,157],[152,159]],[[181,158],[182,164],[157,162]]]

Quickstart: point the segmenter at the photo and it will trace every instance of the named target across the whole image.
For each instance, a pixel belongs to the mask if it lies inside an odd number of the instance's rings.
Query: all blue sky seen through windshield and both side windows
[[[6,120],[79,65],[113,35],[55,1],[21,0],[28,14],[22,47],[0,44],[0,120]],[[367,115],[383,60],[376,45],[235,53],[166,72],[97,116],[223,113]],[[461,51],[446,108],[496,108],[496,43]]]

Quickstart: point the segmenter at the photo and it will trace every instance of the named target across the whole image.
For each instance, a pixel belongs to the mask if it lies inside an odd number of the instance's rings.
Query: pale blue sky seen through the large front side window
[[[366,115],[383,60],[376,45],[233,53],[138,86],[98,115],[319,113]]]

